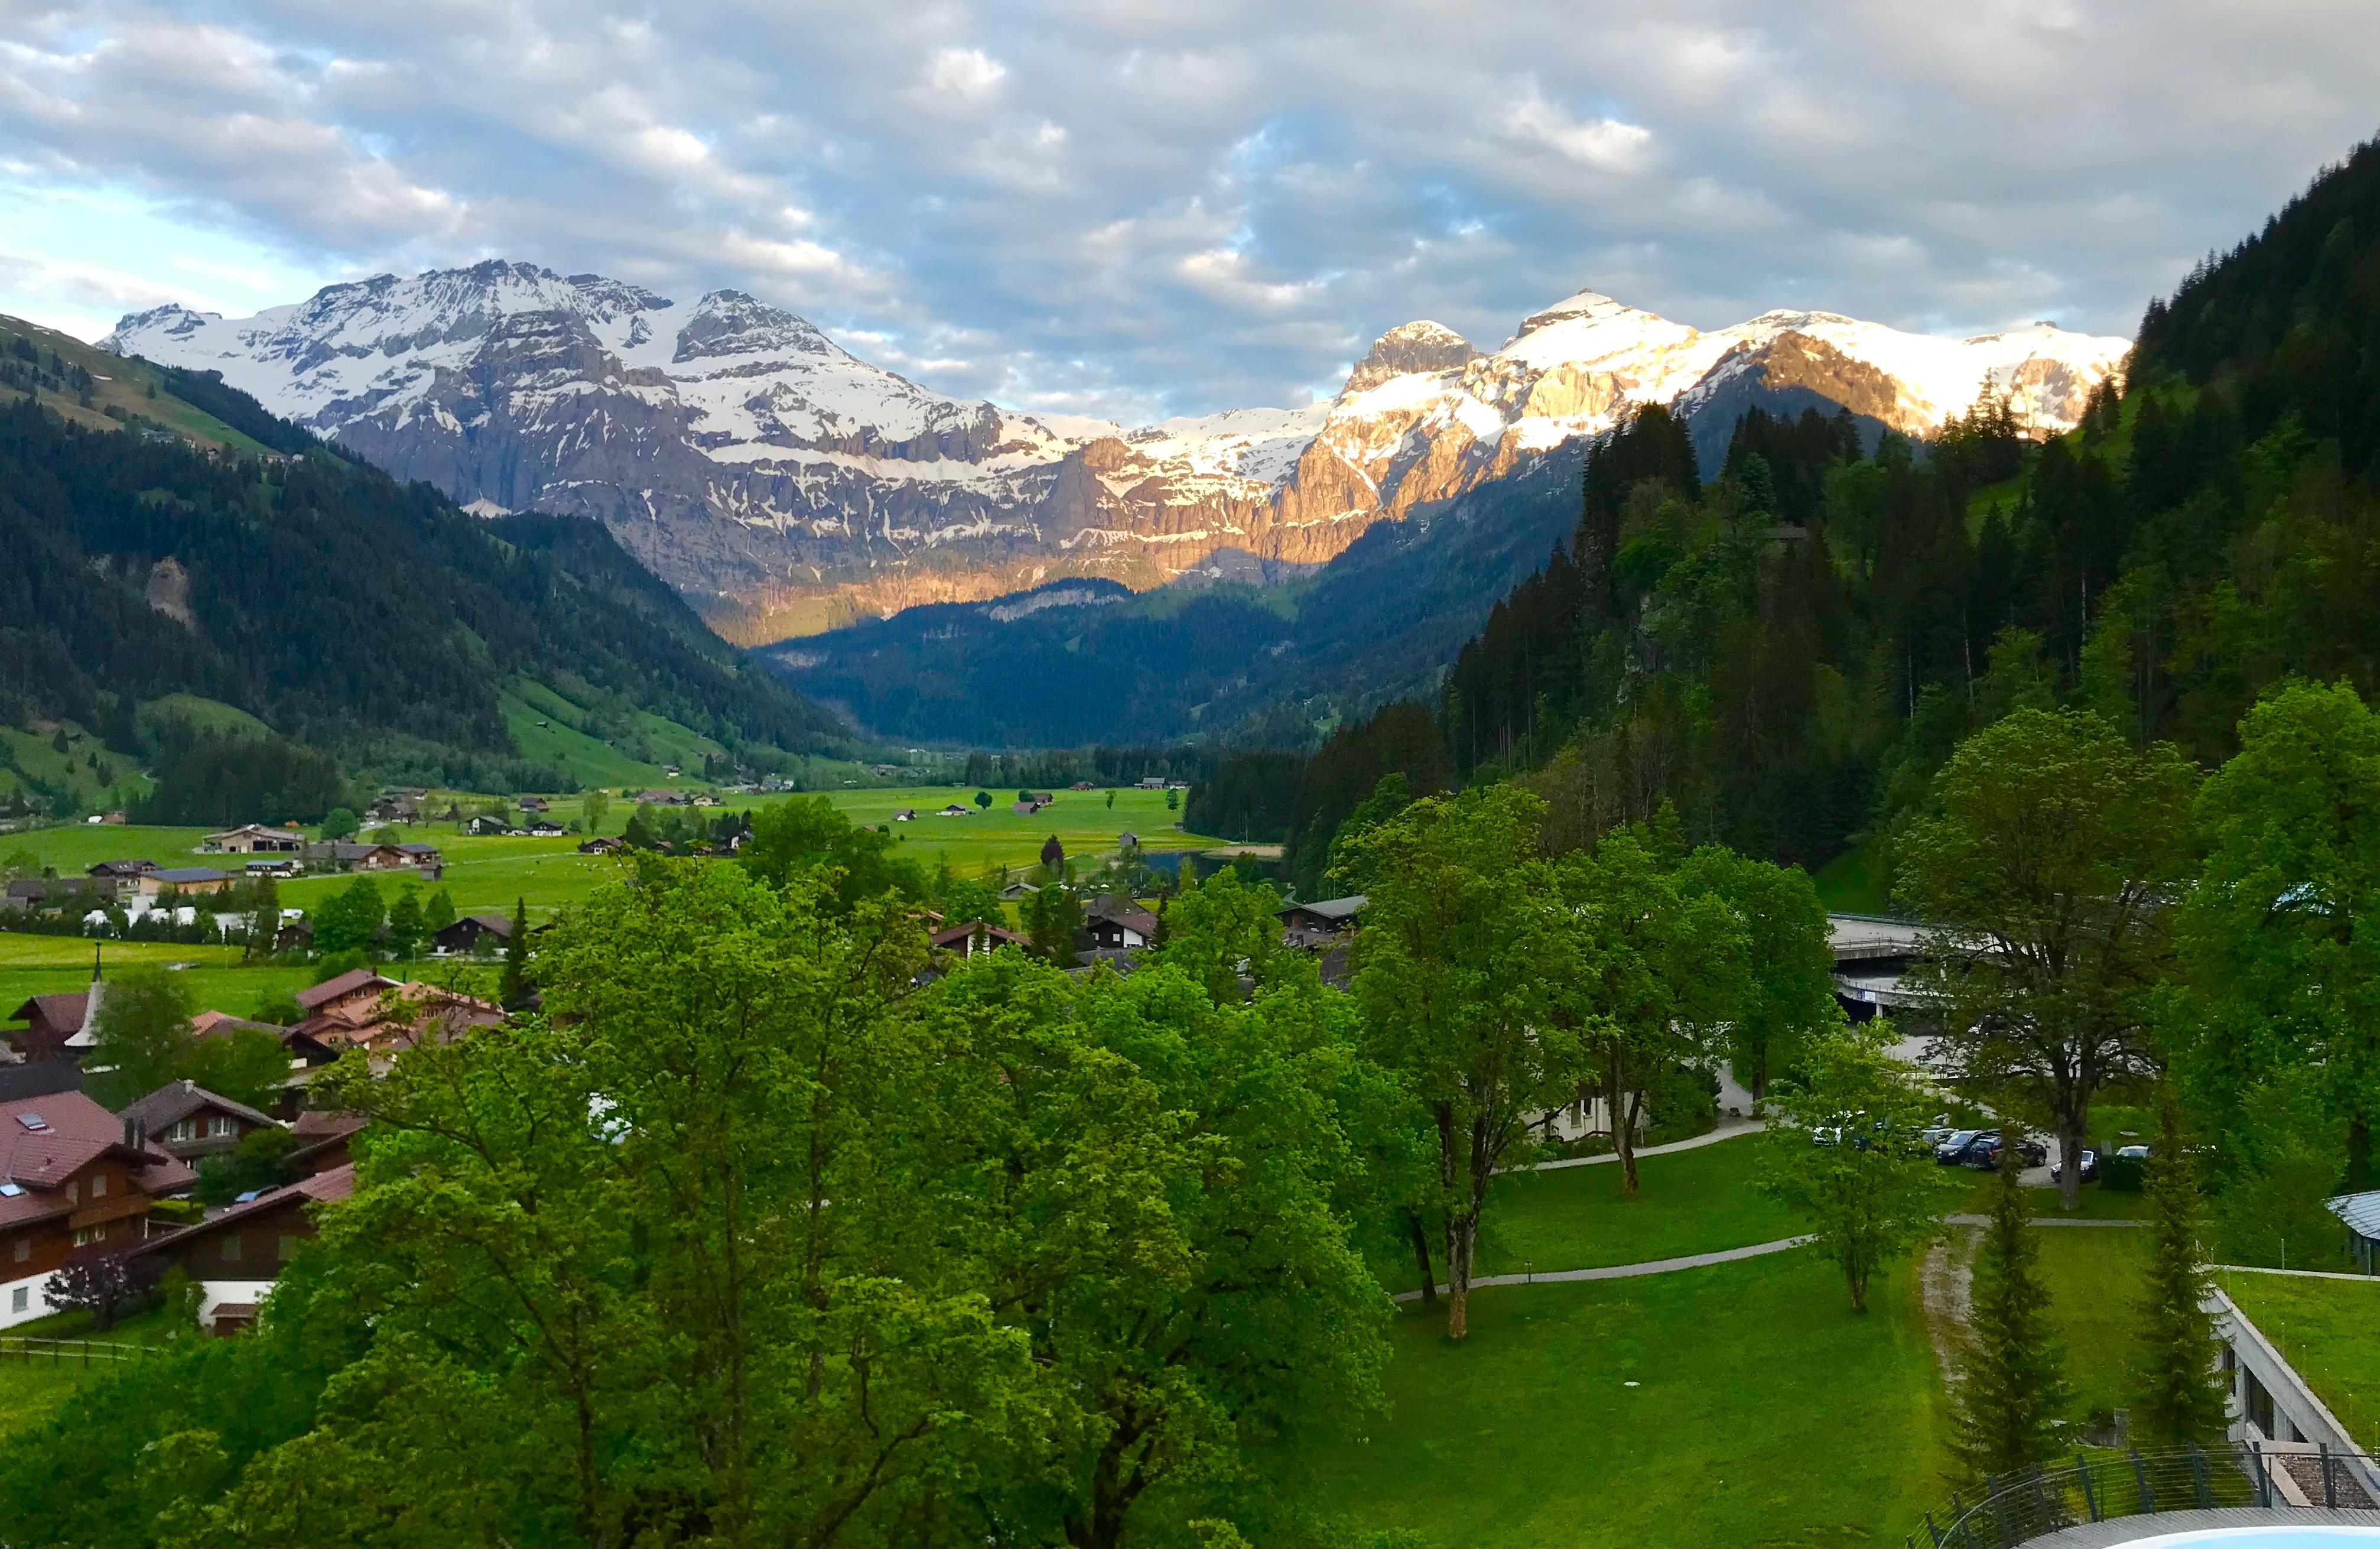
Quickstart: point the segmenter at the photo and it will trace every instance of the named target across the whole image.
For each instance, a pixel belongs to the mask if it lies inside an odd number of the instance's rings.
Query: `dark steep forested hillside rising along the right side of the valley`
[[[1428,759],[1409,719],[1354,726],[1288,778],[1226,766],[1195,821],[1230,795],[1228,830],[1297,840],[1319,880],[1366,780],[1526,771],[1557,823],[1673,802],[1695,838],[1823,866],[1887,842],[1959,738],[2021,704],[2223,759],[2282,678],[2380,683],[2375,324],[2363,145],[2154,302],[2121,397],[2071,435],[1978,405],[1861,454],[1844,419],[1754,414],[1704,483],[1647,409],[1464,647]]]

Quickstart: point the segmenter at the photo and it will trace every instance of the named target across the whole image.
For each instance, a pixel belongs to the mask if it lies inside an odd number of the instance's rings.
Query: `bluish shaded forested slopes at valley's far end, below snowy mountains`
[[[1114,581],[1054,581],[759,654],[885,738],[1304,750],[1319,728],[1435,688],[1488,604],[1568,531],[1578,469],[1580,452],[1557,447],[1521,474],[1373,523],[1290,583],[1135,595]]]

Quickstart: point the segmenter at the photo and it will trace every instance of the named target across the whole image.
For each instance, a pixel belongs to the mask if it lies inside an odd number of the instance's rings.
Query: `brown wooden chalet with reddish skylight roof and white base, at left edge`
[[[0,1102],[0,1328],[52,1311],[74,1254],[140,1242],[150,1202],[195,1180],[81,1092]]]

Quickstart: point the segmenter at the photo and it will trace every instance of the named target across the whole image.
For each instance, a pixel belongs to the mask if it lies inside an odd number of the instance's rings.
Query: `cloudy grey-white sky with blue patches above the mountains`
[[[1583,286],[2130,333],[2373,81],[2368,0],[0,0],[0,312],[512,257],[1119,419]]]

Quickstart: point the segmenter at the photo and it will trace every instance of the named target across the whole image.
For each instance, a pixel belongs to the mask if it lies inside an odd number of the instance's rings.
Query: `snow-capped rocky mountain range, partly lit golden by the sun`
[[[1392,328],[1333,402],[1123,428],[942,397],[738,290],[685,305],[505,262],[248,319],[157,307],[102,343],[221,371],[476,509],[597,516],[747,642],[1059,576],[1157,585],[1214,573],[1221,550],[1319,564],[1640,402],[1680,405],[1721,445],[1749,402],[1923,433],[1990,381],[2066,428],[2128,350],[1828,312],[1702,333],[1580,290],[1492,352],[1433,321]]]

